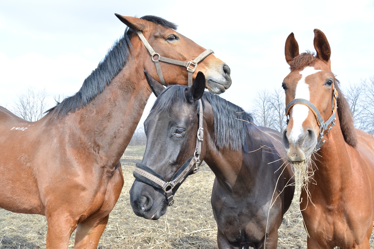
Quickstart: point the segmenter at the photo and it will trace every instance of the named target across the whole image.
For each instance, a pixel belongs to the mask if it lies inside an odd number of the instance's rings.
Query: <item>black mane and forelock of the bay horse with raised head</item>
[[[141,19],[160,24],[166,28],[177,29],[177,25],[174,23],[157,16],[143,16]],[[105,86],[110,84],[111,80],[125,66],[130,53],[128,47],[131,47],[130,36],[132,33],[134,33],[134,30],[126,27],[123,37],[113,44],[105,58],[99,62],[98,67],[85,79],[79,91],[75,95],[65,98],[61,103],[57,103],[46,113],[53,111],[57,116],[65,116],[69,111],[74,112],[88,105],[92,99],[101,93]]]

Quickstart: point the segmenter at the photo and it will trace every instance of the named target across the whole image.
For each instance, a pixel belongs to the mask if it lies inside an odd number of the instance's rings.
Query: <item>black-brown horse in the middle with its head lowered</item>
[[[294,194],[294,174],[285,166],[282,134],[252,124],[242,108],[205,92],[202,73],[190,88],[164,90],[151,77],[147,79],[158,97],[144,122],[147,147],[130,190],[135,214],[159,219],[170,205],[163,182],[166,190],[173,187],[174,195],[187,174],[204,160],[216,176],[211,203],[218,247],[276,248],[278,228]],[[201,150],[196,146],[199,141]],[[193,164],[187,166],[190,161]],[[186,175],[180,177],[181,172]],[[192,208],[199,212],[198,207]]]

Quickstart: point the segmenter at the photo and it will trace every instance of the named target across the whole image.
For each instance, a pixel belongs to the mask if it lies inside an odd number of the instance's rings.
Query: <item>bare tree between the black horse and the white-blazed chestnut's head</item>
[[[260,126],[270,127],[283,132],[286,126],[284,113],[285,96],[281,89],[260,90],[252,100],[253,119]]]

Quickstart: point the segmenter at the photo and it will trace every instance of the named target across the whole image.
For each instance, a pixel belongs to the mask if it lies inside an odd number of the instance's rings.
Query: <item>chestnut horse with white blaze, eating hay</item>
[[[287,159],[303,174],[300,209],[308,248],[370,248],[374,219],[374,139],[355,129],[347,100],[331,72],[331,49],[314,30],[316,55],[299,54],[291,33],[283,80]]]

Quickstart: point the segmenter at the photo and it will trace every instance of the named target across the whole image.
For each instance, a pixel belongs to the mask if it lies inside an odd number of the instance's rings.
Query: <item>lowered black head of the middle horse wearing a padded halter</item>
[[[196,132],[199,129],[197,101],[203,96],[205,77],[199,72],[190,88],[169,86],[165,89],[146,72],[145,75],[157,99],[144,122],[147,146],[137,167],[162,179],[164,183],[173,182],[168,187],[169,193],[174,195],[187,175],[193,172],[193,167],[198,167],[200,163],[194,161],[192,163],[196,162],[196,165],[188,168],[196,151]],[[178,91],[173,91],[176,88],[179,88]],[[187,170],[186,174],[173,186],[174,179],[183,170]],[[170,205],[165,195],[168,189],[163,190],[154,182],[144,181],[142,176],[136,175],[136,170],[134,176],[137,179],[130,190],[134,213],[147,219],[159,219]]]

